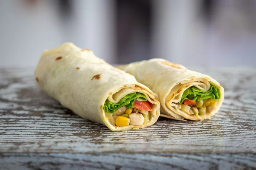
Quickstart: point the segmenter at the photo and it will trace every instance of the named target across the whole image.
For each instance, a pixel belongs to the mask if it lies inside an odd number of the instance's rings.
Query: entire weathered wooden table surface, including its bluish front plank
[[[225,89],[211,120],[112,132],[49,98],[33,69],[0,69],[0,170],[256,169],[256,68],[194,70]]]

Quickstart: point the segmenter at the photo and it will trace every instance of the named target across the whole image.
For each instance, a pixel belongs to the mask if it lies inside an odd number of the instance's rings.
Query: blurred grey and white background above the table
[[[0,67],[64,42],[111,64],[256,66],[256,0],[0,0]]]

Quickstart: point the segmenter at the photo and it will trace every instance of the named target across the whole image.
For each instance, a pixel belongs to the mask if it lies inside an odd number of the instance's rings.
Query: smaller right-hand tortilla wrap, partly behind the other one
[[[178,120],[204,120],[224,100],[224,88],[215,79],[165,59],[149,59],[116,66],[133,74],[159,97],[160,116]]]

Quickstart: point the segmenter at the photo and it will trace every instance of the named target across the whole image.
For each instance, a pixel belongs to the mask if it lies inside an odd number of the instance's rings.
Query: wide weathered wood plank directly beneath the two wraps
[[[151,127],[111,132],[50,99],[31,69],[0,69],[0,153],[256,153],[256,68],[194,70],[225,88],[211,120],[160,118]]]

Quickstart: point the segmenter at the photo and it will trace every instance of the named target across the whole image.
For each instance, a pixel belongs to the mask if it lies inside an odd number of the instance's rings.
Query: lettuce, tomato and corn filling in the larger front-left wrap
[[[103,108],[112,114],[112,124],[116,126],[143,125],[149,121],[149,111],[152,111],[151,103],[138,92],[124,96],[115,104],[106,100]]]

